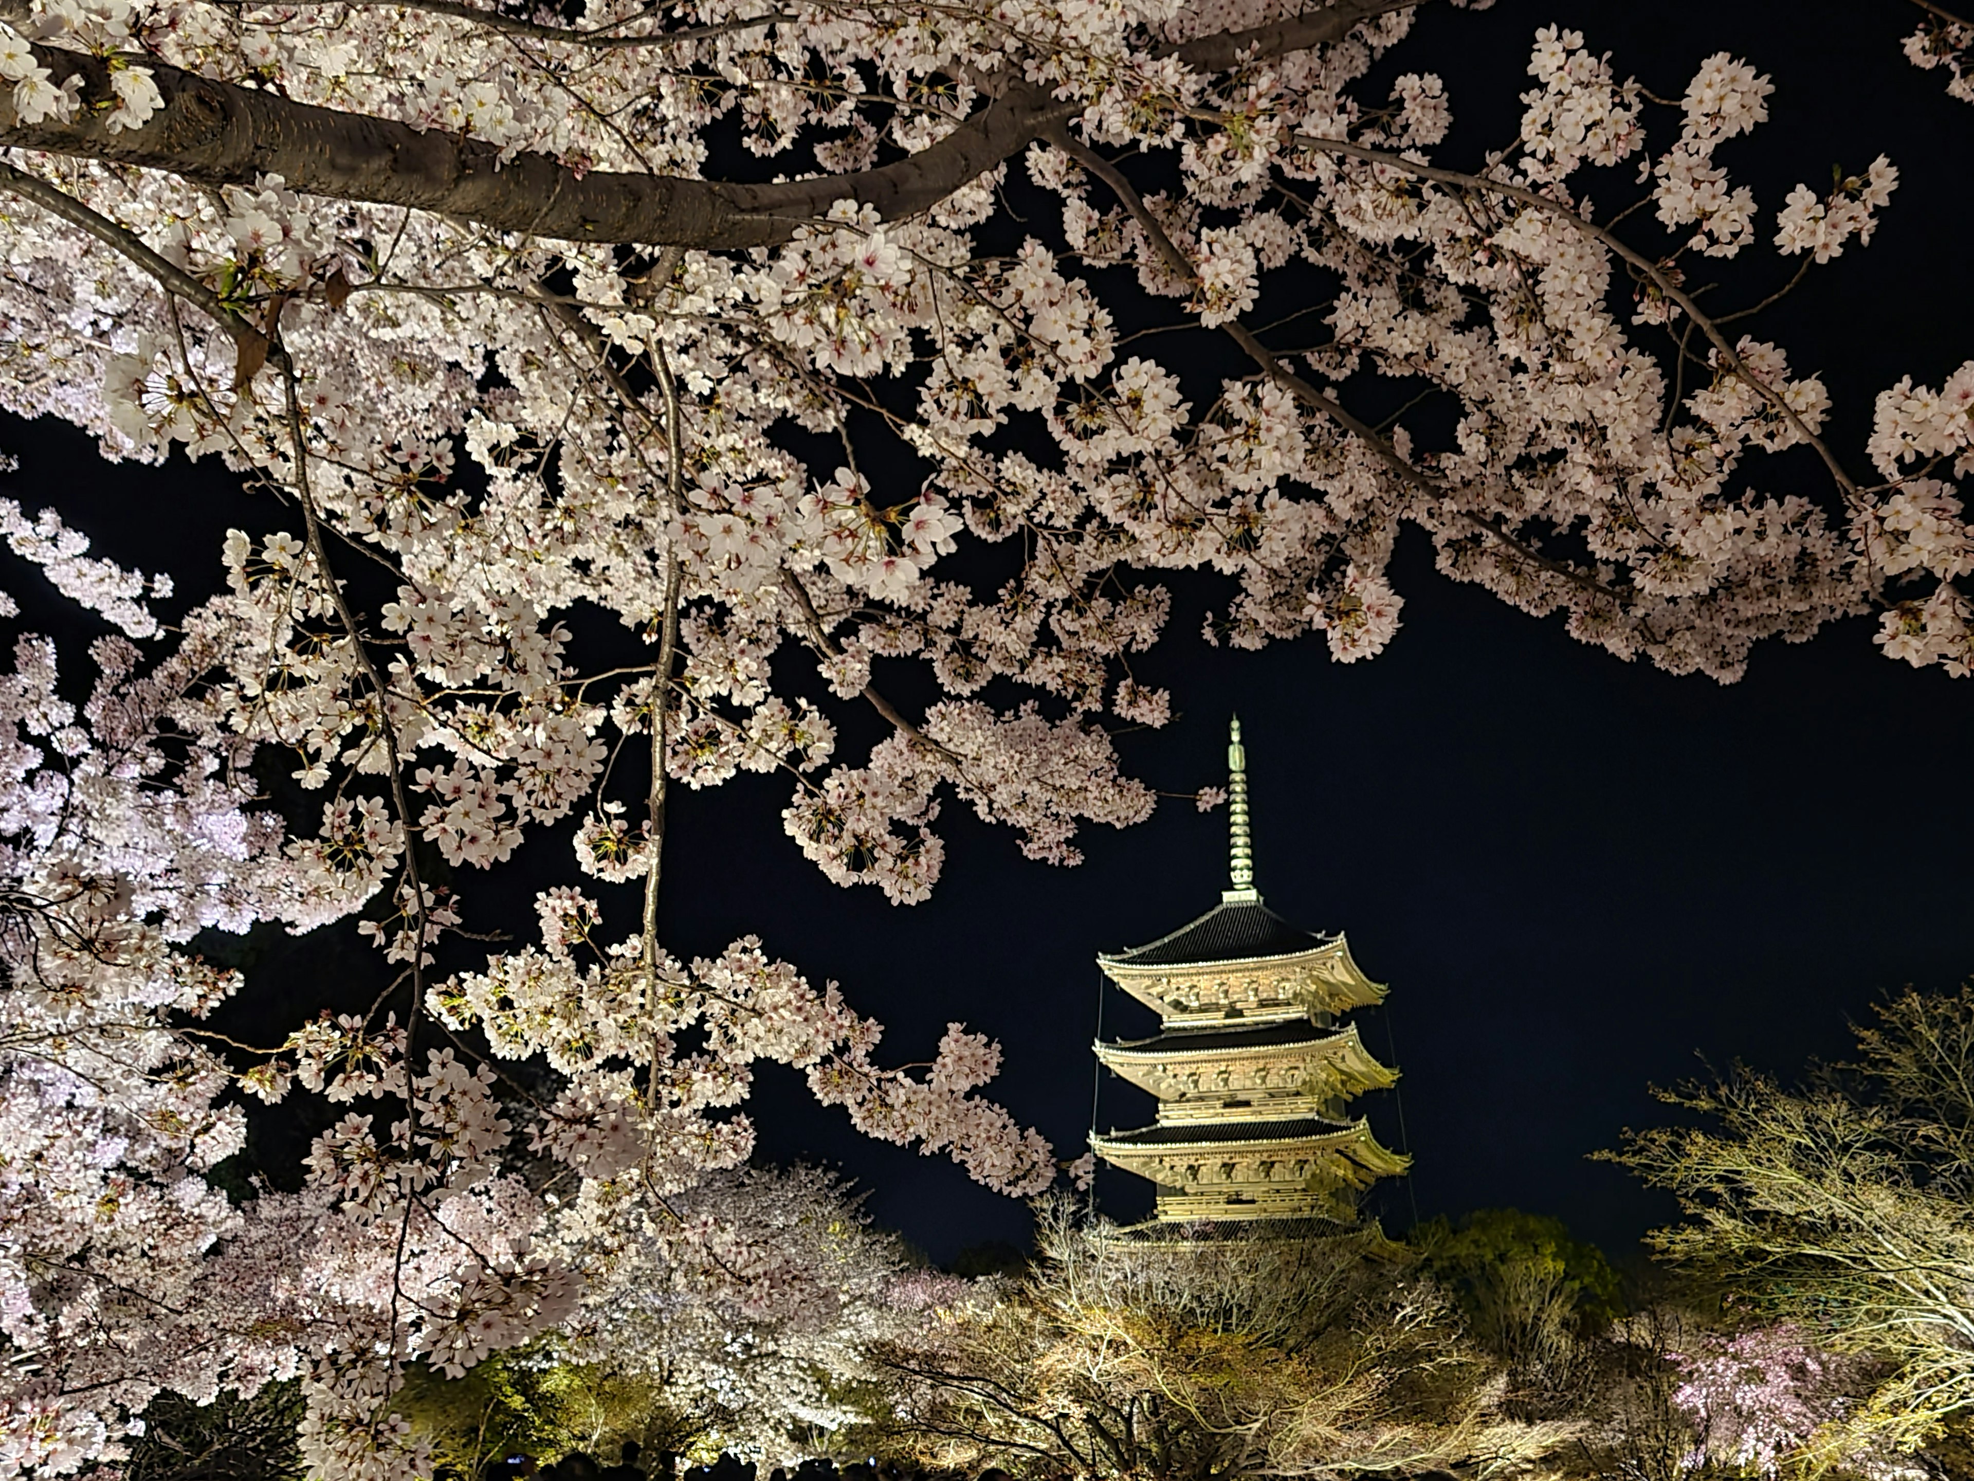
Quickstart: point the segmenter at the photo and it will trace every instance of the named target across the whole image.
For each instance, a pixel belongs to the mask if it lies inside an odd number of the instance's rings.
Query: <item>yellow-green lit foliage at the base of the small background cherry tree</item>
[[[503,1455],[608,1455],[626,1440],[647,1451],[687,1451],[701,1434],[665,1402],[659,1380],[557,1363],[541,1345],[495,1353],[460,1378],[417,1364],[395,1406],[430,1440],[436,1473],[460,1481]]]

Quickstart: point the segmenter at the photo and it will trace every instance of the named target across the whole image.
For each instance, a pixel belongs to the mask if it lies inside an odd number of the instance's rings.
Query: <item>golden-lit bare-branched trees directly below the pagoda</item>
[[[1040,1260],[873,1347],[880,1436],[920,1463],[1023,1475],[1514,1475],[1569,1422],[1500,1412],[1494,1364],[1404,1246],[1145,1242],[1042,1220]]]

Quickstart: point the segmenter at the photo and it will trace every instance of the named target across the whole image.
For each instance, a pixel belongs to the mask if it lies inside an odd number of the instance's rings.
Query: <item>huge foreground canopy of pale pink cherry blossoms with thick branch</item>
[[[166,577],[0,507],[122,634],[87,697],[34,636],[0,687],[0,1477],[114,1459],[160,1390],[290,1376],[310,1467],[418,1473],[405,1364],[535,1341],[687,1238],[766,1062],[1046,1187],[963,1025],[886,1064],[760,940],[665,950],[667,790],[780,774],[794,845],[898,902],[938,883],[948,804],[1074,863],[1155,802],[1111,727],[1171,715],[1133,673],[1159,573],[1228,579],[1212,642],[1354,662],[1398,628],[1409,525],[1449,577],[1672,671],[1867,610],[1893,658],[1968,671],[1974,361],[1889,387],[1860,464],[1743,326],[1765,300],[1688,288],[1863,249],[1893,164],[1763,219],[1719,158],[1767,117],[1755,65],[1696,57],[1662,103],[1561,28],[1518,140],[1433,162],[1441,81],[1364,81],[1413,22],[0,2],[0,405],[215,456],[288,523],[229,535],[223,590],[164,624]],[[1964,91],[1964,47],[1929,10],[1909,51]],[[1261,324],[1269,284],[1327,334]],[[1202,379],[1175,350],[1202,338],[1246,369]],[[1451,432],[1372,411],[1392,385]],[[1822,482],[1763,492],[1757,454],[1790,450]],[[612,642],[634,660],[592,662]],[[845,707],[882,719],[867,754]],[[257,766],[320,806],[276,816]],[[559,827],[565,883],[488,954],[458,881]],[[369,1013],[205,1027],[241,979],[201,930],[357,914],[397,974]],[[243,1094],[340,1108],[302,1193],[207,1177]]]

